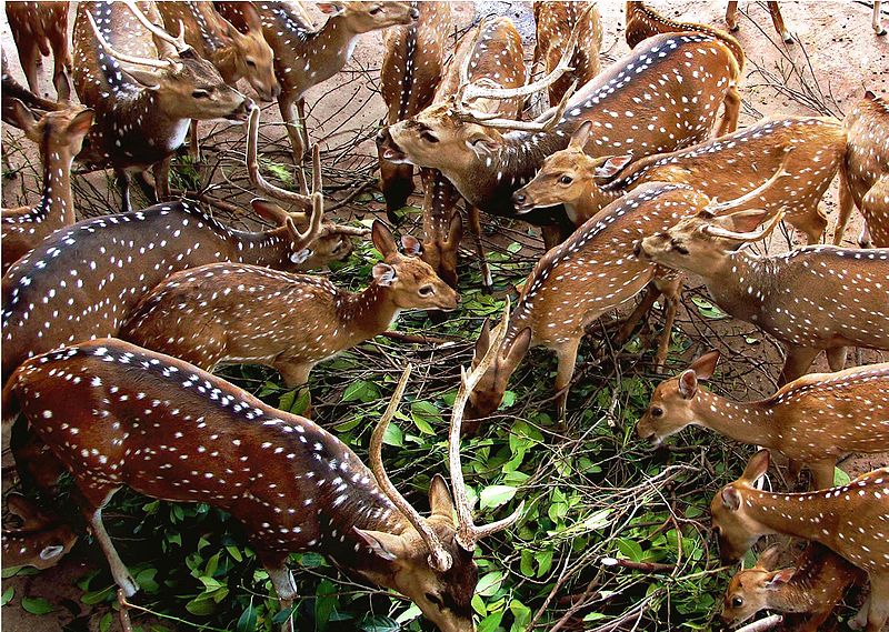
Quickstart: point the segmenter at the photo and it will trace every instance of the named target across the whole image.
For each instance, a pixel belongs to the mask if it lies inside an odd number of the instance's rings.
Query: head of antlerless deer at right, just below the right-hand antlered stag
[[[678,377],[665,380],[655,389],[648,410],[636,427],[639,439],[660,445],[671,434],[696,423],[691,401],[699,380],[709,380],[719,361],[719,351],[705,353]]]

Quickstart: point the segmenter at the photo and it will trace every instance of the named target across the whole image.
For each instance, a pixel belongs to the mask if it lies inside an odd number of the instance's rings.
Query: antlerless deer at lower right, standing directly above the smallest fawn
[[[725,563],[738,561],[769,533],[823,544],[870,579],[867,632],[880,632],[889,619],[889,468],[850,483],[816,492],[772,493],[753,486],[769,469],[769,451],[757,452],[743,474],[710,503],[713,531]]]

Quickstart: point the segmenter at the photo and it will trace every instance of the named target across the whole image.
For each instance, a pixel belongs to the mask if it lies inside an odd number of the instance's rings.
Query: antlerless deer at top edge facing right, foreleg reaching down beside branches
[[[217,2],[219,11],[232,24],[246,27],[244,2]],[[410,24],[419,11],[410,2],[318,2],[328,16],[316,30],[306,21],[304,12],[290,2],[253,2],[262,20],[266,41],[274,51],[274,72],[281,84],[278,107],[287,123],[293,149],[293,161],[302,164],[308,147],[306,128],[306,92],[337,74],[351,59],[358,36],[398,24]],[[301,189],[306,180],[300,170]]]

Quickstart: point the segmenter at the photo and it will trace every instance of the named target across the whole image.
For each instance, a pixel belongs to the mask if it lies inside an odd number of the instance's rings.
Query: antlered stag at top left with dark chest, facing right
[[[78,160],[114,169],[124,212],[131,171],[154,165],[156,192],[169,197],[166,159],[182,144],[190,120],[244,120],[248,106],[181,32],[173,38],[156,24],[153,3],[141,7],[80,2],[74,21],[74,88],[96,111]]]

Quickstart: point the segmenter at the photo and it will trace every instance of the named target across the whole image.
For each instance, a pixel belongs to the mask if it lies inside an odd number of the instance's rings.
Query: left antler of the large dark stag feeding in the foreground
[[[411,364],[404,367],[404,372],[401,373],[401,379],[398,381],[396,392],[389,401],[386,412],[377,423],[377,428],[373,429],[373,434],[370,437],[370,469],[377,478],[377,483],[380,485],[380,489],[382,489],[389,500],[392,501],[392,504],[408,519],[423,539],[423,542],[426,542],[426,545],[429,548],[429,565],[443,573],[451,568],[453,562],[450,553],[441,545],[438,534],[429,526],[423,516],[421,516],[396,489],[392,481],[389,480],[389,474],[386,473],[386,468],[383,468],[382,464],[382,439],[386,434],[386,429],[389,427],[389,422],[392,421],[398,405],[401,403],[401,398],[404,395],[404,388],[408,385],[408,378],[410,378],[411,370]]]

